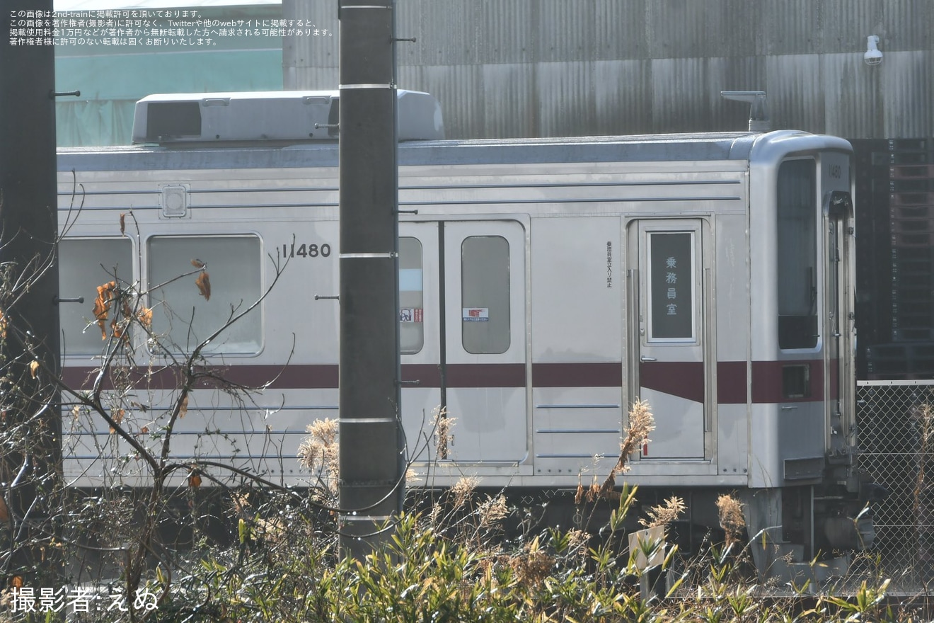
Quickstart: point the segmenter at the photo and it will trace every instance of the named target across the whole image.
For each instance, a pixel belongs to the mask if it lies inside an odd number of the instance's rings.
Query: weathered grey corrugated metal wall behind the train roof
[[[336,2],[284,0],[336,33]],[[773,127],[930,136],[931,0],[397,0],[399,84],[451,137],[743,128],[725,90],[768,92]],[[863,62],[879,35],[883,63]],[[288,88],[337,86],[337,36],[287,40]]]

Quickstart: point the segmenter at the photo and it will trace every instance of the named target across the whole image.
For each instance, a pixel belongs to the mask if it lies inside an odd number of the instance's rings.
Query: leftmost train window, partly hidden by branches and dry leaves
[[[99,355],[104,343],[94,321],[97,287],[133,282],[133,244],[129,238],[64,238],[58,252],[62,352]]]

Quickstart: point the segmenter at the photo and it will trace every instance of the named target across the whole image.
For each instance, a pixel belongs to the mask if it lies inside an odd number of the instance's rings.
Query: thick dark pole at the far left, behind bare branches
[[[62,452],[59,398],[49,378],[60,369],[55,304],[58,263],[53,254],[58,235],[55,49],[51,43],[51,0],[13,3],[12,7],[4,12],[4,21],[10,25],[0,37],[0,263],[15,265],[13,278],[23,276],[32,283],[16,304],[2,302],[6,330],[3,376],[8,380],[0,386],[0,408],[7,418],[7,430],[27,420],[31,423],[27,445],[4,453],[7,465],[0,484],[4,497],[11,493],[7,502],[14,519],[21,521],[29,512],[28,519],[35,525],[47,517],[46,505],[34,502],[37,497],[42,499],[46,484],[60,473]],[[27,13],[33,14],[35,27],[28,39]],[[20,37],[14,29],[18,31],[21,21]],[[48,36],[44,35],[46,23]],[[33,277],[43,265],[47,267],[44,275]],[[34,355],[29,347],[35,348],[35,359],[49,372],[33,373],[30,363]],[[19,391],[8,391],[13,384]],[[24,471],[23,465],[27,466]],[[17,474],[21,474],[20,481],[8,489]],[[14,557],[16,563],[38,564],[37,549],[32,556],[29,551]]]

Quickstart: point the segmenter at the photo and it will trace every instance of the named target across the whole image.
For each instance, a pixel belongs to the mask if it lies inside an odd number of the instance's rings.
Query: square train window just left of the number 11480
[[[149,238],[152,329],[166,346],[187,351],[262,295],[262,249],[255,235]],[[196,266],[204,264],[205,280]],[[183,276],[184,275],[184,276]],[[262,344],[259,307],[237,320],[205,353],[256,353]]]

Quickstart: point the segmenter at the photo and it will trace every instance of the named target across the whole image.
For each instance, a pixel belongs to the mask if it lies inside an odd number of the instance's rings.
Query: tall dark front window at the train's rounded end
[[[778,169],[778,347],[817,346],[817,200],[813,160]]]

